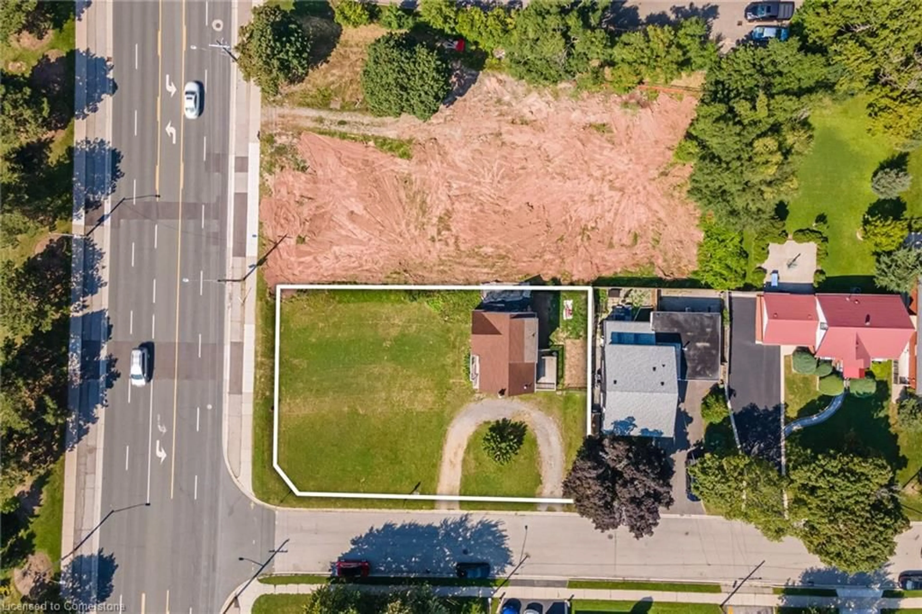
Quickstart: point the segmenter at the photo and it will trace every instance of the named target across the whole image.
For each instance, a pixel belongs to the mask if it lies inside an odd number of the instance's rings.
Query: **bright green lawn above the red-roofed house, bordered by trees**
[[[819,106],[810,117],[814,126],[813,148],[800,166],[800,192],[789,204],[787,230],[807,228],[820,214],[829,219],[829,257],[823,264],[824,287],[848,288],[867,283],[873,276],[874,257],[858,241],[856,232],[868,207],[877,200],[870,178],[878,166],[897,152],[885,136],[868,133],[865,100]],[[910,156],[910,166],[922,166],[922,152]],[[905,195],[907,215],[922,214],[922,180]],[[837,280],[836,277],[839,277]]]

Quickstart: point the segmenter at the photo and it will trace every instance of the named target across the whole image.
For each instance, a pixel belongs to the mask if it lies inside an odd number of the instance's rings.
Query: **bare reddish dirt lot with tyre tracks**
[[[687,275],[698,212],[671,156],[694,105],[537,91],[484,73],[428,123],[269,108],[264,140],[299,160],[264,177],[263,233],[291,237],[266,280],[592,280],[651,266]],[[409,141],[412,156],[318,129]]]

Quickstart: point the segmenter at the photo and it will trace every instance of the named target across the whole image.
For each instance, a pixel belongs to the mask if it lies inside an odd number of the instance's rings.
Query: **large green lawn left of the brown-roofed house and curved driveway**
[[[301,490],[434,492],[448,423],[473,397],[469,311],[445,321],[403,291],[284,301],[278,459]]]

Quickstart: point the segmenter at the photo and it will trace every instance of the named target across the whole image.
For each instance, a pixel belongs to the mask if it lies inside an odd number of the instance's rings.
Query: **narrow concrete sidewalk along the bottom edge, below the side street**
[[[264,595],[306,595],[312,593],[318,586],[324,584],[262,584],[254,582],[247,587],[239,597],[240,611],[249,614],[257,598]],[[389,591],[395,585],[368,585],[355,584],[361,590],[371,592]],[[480,596],[492,599],[519,599],[526,600],[568,600],[568,599],[599,599],[604,601],[661,601],[671,603],[694,603],[720,605],[727,601],[730,608],[736,607],[762,607],[775,608],[786,606],[793,608],[829,607],[839,608],[840,612],[879,611],[880,609],[895,608],[922,608],[922,597],[882,597],[881,591],[871,589],[843,589],[839,596],[804,596],[804,595],[774,595],[772,593],[676,593],[671,591],[636,591],[636,590],[608,590],[593,588],[566,588],[554,586],[516,586],[506,585],[500,588],[493,586],[433,586],[437,595],[441,596]],[[727,608],[727,611],[730,611]]]

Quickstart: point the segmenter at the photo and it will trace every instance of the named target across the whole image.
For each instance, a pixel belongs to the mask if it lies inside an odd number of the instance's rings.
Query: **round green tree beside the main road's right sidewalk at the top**
[[[307,76],[311,40],[289,11],[275,5],[253,9],[253,20],[241,26],[237,65],[248,81],[269,96],[287,83]]]

